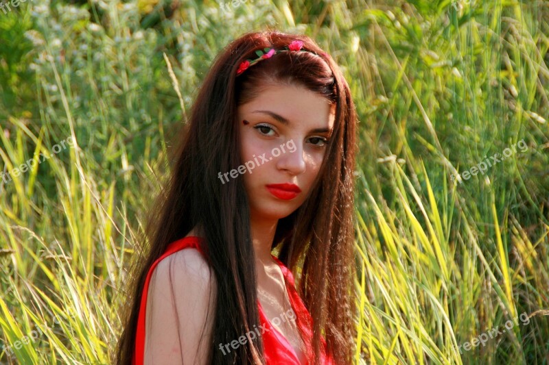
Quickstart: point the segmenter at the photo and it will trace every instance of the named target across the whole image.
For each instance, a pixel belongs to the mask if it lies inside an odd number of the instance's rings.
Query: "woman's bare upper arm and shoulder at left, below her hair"
[[[216,292],[215,275],[196,249],[159,262],[147,294],[144,365],[207,364]]]

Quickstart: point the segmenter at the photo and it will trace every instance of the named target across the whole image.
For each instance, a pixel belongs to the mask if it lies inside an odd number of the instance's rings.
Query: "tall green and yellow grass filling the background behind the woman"
[[[548,19],[543,2],[472,0],[0,12],[0,169],[51,155],[0,179],[0,363],[111,362],[174,131],[215,54],[270,25],[329,51],[360,117],[355,363],[549,364]]]

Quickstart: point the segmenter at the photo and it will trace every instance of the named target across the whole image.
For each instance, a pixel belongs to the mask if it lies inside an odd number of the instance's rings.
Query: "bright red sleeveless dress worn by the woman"
[[[202,253],[199,244],[199,241],[201,239],[202,238],[189,236],[170,243],[165,253],[163,253],[163,255],[161,255],[161,257],[156,260],[149,269],[147,278],[145,279],[143,296],[141,297],[141,306],[139,307],[139,318],[137,320],[137,334],[135,339],[135,353],[132,359],[133,365],[143,365],[143,357],[145,355],[145,313],[147,294],[150,278],[152,276],[154,268],[163,258],[182,249],[186,249],[187,247],[198,249],[198,251]],[[303,304],[303,301],[301,301],[299,294],[297,294],[296,292],[292,272],[286,266],[284,266],[284,264],[277,257],[272,257],[280,265],[280,268],[284,275],[286,288],[288,290],[288,294],[290,295],[292,309],[294,310],[296,316],[296,323],[301,329],[303,329],[303,332],[305,333],[305,355],[307,353],[312,354],[312,318],[307,311],[307,308]],[[257,329],[257,331],[263,332],[261,333],[261,337],[263,338],[264,343],[264,356],[266,364],[300,365],[294,348],[276,328],[272,327],[271,323],[266,318],[265,313],[263,312],[263,308],[261,307],[261,303],[259,303],[259,300],[257,301],[257,306],[259,309],[260,325],[263,328],[261,329],[261,331],[259,329]],[[321,363],[327,365],[334,364],[332,358],[325,355],[326,342],[324,338],[321,338],[321,342],[323,349],[323,351],[321,352]],[[312,364],[312,359],[307,361],[307,365],[308,364]]]

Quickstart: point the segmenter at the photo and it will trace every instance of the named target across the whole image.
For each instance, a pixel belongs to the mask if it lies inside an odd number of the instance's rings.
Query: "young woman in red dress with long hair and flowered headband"
[[[151,214],[117,364],[350,364],[355,127],[313,40],[231,42]]]

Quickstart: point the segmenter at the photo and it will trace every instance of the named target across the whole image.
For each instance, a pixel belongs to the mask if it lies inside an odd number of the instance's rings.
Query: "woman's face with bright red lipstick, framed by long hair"
[[[251,217],[290,215],[303,204],[318,175],[334,128],[334,109],[302,86],[277,84],[237,112],[245,166],[240,171]]]

